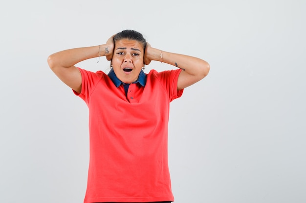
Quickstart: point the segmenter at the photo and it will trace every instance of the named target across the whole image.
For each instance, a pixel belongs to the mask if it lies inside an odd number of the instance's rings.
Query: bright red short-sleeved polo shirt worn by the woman
[[[107,74],[79,69],[89,109],[89,168],[84,203],[174,201],[168,168],[170,102],[180,69],[147,74],[128,94]]]

